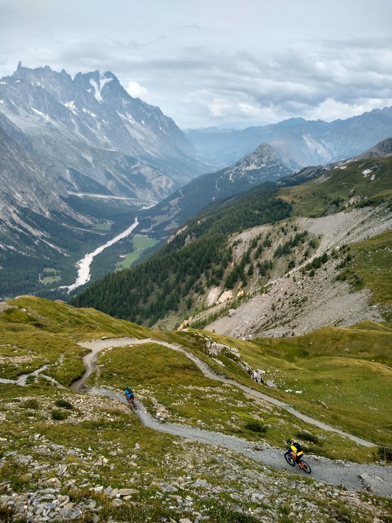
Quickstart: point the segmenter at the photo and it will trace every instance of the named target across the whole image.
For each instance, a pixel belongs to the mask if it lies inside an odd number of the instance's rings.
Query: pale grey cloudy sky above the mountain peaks
[[[392,106],[391,0],[0,0],[0,77],[110,70],[182,127]]]

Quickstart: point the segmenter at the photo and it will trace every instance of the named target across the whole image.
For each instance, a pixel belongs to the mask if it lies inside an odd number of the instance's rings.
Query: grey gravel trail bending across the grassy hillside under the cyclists
[[[128,404],[124,399],[122,393],[120,394],[108,389],[98,389],[90,386],[86,387],[84,383],[87,380],[87,378],[91,375],[91,373],[93,373],[96,369],[95,363],[97,361],[98,354],[101,350],[109,347],[126,347],[141,345],[145,343],[155,343],[157,345],[168,347],[172,350],[178,350],[181,353],[185,354],[189,359],[191,359],[207,378],[236,386],[250,395],[261,398],[264,401],[273,403],[278,407],[285,408],[285,410],[289,411],[294,416],[297,416],[299,419],[302,419],[309,424],[312,424],[324,430],[333,431],[337,434],[350,438],[351,440],[355,441],[358,445],[362,445],[365,447],[374,446],[374,444],[372,444],[369,441],[362,440],[350,434],[344,433],[339,429],[319,422],[317,419],[306,416],[296,411],[292,406],[286,403],[283,403],[279,400],[274,399],[273,397],[253,390],[247,387],[246,385],[236,382],[235,380],[225,378],[224,376],[215,373],[212,369],[210,369],[210,367],[206,365],[206,363],[204,363],[204,361],[199,359],[197,356],[191,353],[191,351],[187,350],[181,345],[169,344],[151,338],[97,339],[90,342],[79,343],[80,346],[88,348],[90,352],[87,353],[83,358],[83,362],[86,369],[85,374],[82,378],[80,378],[78,381],[75,381],[71,385],[71,389],[75,392],[86,391],[92,395],[110,397],[113,400],[120,401],[124,404]],[[178,436],[181,438],[187,438],[191,441],[198,441],[208,445],[224,447],[235,452],[239,452],[240,454],[243,454],[244,456],[247,456],[255,461],[259,461],[268,465],[273,465],[278,469],[284,468],[293,471],[293,469],[286,464],[284,459],[282,459],[283,452],[281,449],[276,449],[268,446],[266,447],[265,445],[262,445],[262,447],[264,447],[263,450],[258,451],[253,449],[253,445],[250,444],[249,441],[237,438],[235,436],[228,436],[210,430],[201,430],[186,425],[179,425],[176,423],[162,423],[155,419],[151,414],[149,414],[145,410],[144,405],[140,402],[137,402],[136,415],[139,417],[143,425],[154,430],[158,430],[162,433],[171,434],[172,436]],[[390,466],[381,467],[379,465],[374,464],[360,465],[351,462],[338,463],[326,458],[317,457],[311,457],[307,459],[307,461],[313,469],[312,477],[317,481],[326,482],[334,485],[343,485],[350,491],[364,490],[367,486],[375,494],[392,497],[392,467]],[[298,472],[297,468],[295,470]],[[364,473],[367,473],[367,475]],[[301,472],[301,474],[303,473]],[[364,475],[364,479],[361,479],[359,477],[361,474]]]

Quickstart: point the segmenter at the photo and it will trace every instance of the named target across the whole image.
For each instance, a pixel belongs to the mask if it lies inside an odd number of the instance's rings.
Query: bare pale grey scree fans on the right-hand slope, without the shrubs
[[[323,218],[298,218],[296,223],[299,230],[306,229],[320,238],[314,256],[321,256],[392,228],[392,213],[386,208],[358,209]],[[252,231],[240,237],[249,241],[247,235],[259,234],[259,230]],[[377,305],[371,303],[371,291],[353,293],[347,282],[336,280],[340,261],[330,259],[314,277],[301,274],[305,263],[297,266],[284,277],[270,281],[267,293],[257,294],[205,329],[236,338],[281,337],[305,334],[326,325],[344,327],[363,320],[382,321]]]

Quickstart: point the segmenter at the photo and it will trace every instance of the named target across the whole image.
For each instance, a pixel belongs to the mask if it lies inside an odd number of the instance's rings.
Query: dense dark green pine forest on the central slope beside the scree
[[[219,285],[232,263],[230,234],[289,217],[291,203],[278,198],[277,191],[274,183],[266,183],[211,204],[143,264],[94,282],[70,304],[149,326],[180,312],[184,304],[189,310],[193,297]]]

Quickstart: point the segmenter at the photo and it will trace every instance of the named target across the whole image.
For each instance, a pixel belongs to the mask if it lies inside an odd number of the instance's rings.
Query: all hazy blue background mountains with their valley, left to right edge
[[[0,79],[0,296],[45,290],[48,270],[72,283],[76,261],[136,215],[139,231],[163,240],[207,204],[304,181],[392,134],[391,121],[384,108],[331,123],[184,133],[109,71],[72,78],[19,63]],[[316,167],[291,177],[304,165]]]

